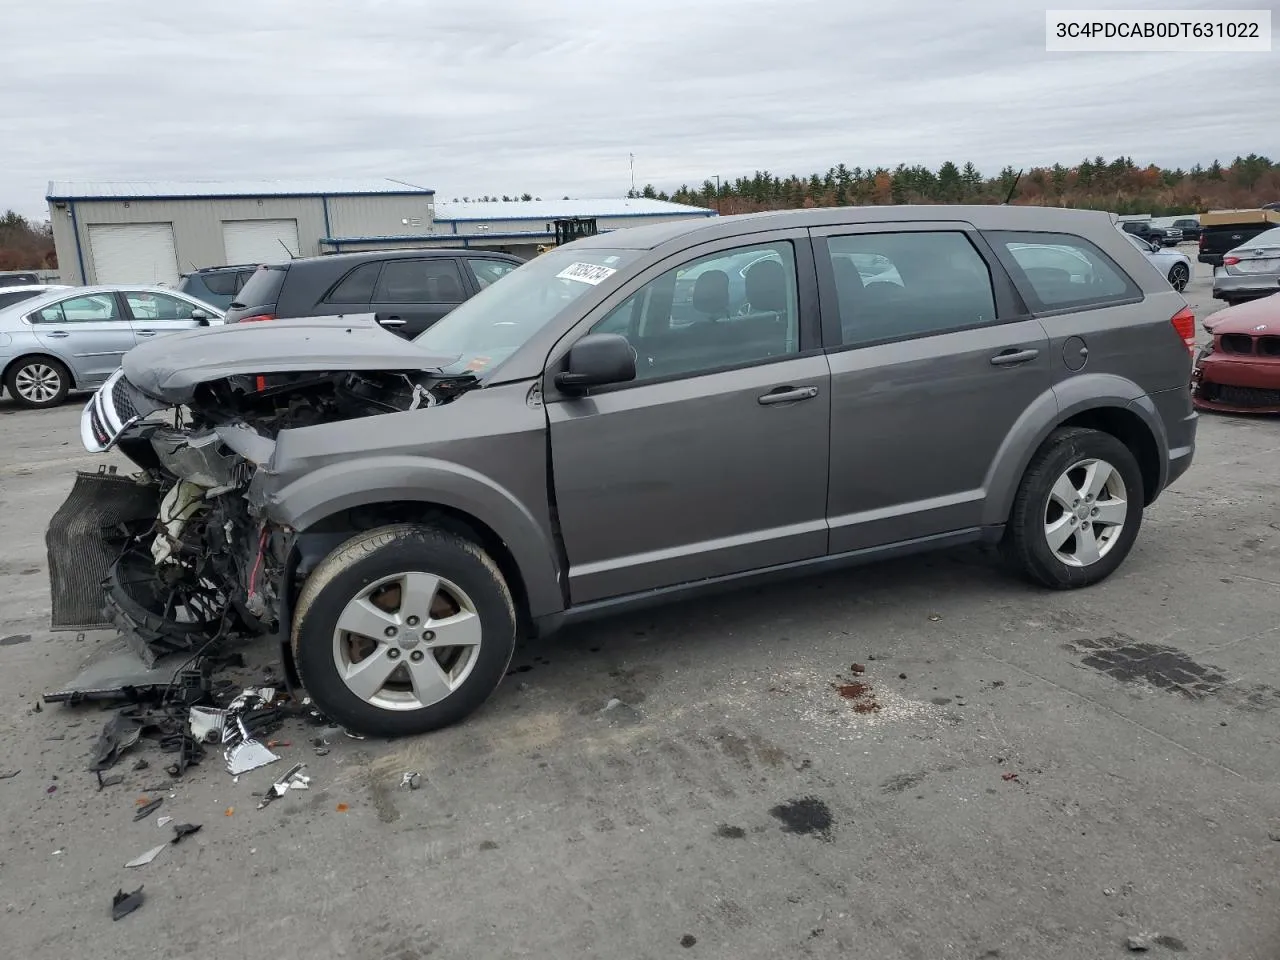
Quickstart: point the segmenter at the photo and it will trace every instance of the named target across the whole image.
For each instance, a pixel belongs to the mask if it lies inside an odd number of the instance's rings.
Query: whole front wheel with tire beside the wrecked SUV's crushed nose
[[[364,630],[340,626],[352,623]],[[425,733],[497,689],[516,649],[516,608],[479,545],[397,524],[321,561],[298,596],[292,643],[302,685],[334,722],[371,736]]]

